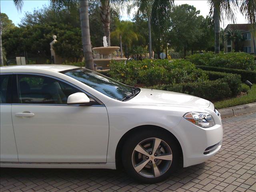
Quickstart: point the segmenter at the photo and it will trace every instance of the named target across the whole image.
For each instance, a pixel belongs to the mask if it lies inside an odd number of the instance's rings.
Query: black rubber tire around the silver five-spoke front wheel
[[[168,146],[172,150],[172,162],[169,169],[164,174],[155,178],[148,178],[140,175],[138,172],[136,172],[132,164],[132,153],[134,151],[134,148],[141,141],[148,138],[159,138],[164,142],[166,142],[166,144],[168,144]],[[122,164],[126,172],[132,178],[134,178],[134,180],[142,183],[157,183],[168,178],[170,174],[179,167],[179,157],[180,157],[180,150],[178,148],[176,139],[173,138],[172,135],[166,134],[166,132],[164,131],[151,129],[151,128],[149,128],[148,130],[142,130],[140,132],[136,132],[136,134],[130,135],[122,148]]]

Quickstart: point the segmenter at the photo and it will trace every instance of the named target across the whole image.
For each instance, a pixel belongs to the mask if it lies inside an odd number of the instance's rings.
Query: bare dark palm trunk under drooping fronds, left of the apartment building
[[[214,2],[214,52],[220,52],[220,7]]]

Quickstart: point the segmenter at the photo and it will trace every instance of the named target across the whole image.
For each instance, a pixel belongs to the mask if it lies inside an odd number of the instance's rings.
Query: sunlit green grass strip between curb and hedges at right
[[[214,106],[215,108],[220,109],[252,102],[256,102],[256,84],[252,86],[252,89],[248,91],[248,94],[236,98],[214,102]]]

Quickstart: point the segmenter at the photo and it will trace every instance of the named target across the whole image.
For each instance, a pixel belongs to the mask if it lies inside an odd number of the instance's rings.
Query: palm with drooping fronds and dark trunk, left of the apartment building
[[[220,52],[220,21],[224,18],[236,20],[235,12],[238,7],[238,0],[208,0],[210,4],[210,16],[214,20],[214,50]]]

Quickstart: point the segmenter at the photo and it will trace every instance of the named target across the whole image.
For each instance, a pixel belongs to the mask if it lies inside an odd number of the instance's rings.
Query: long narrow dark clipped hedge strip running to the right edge
[[[229,69],[229,68],[222,68],[222,67],[202,66],[202,65],[197,65],[196,67],[206,71],[217,71],[217,72],[239,74],[241,75],[242,81],[249,80],[252,83],[256,83],[256,71]]]

